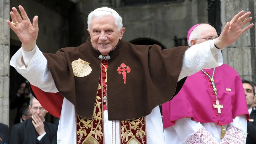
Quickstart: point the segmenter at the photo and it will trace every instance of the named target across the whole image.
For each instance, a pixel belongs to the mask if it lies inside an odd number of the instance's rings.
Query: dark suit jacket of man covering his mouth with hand
[[[37,131],[32,124],[32,118],[12,126],[9,144],[57,144],[57,127],[44,122],[45,136],[38,141]]]

